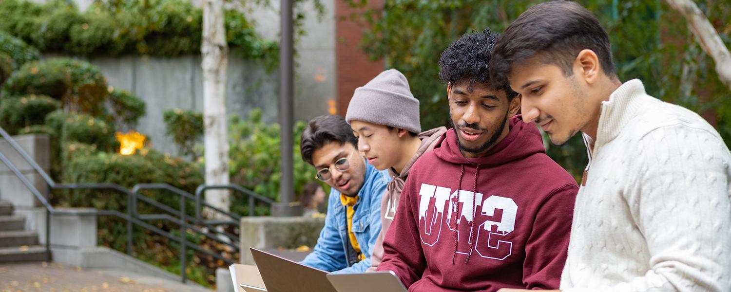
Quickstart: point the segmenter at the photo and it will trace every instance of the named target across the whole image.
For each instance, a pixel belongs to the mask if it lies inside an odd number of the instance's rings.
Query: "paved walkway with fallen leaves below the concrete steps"
[[[115,270],[85,270],[56,263],[0,264],[0,292],[211,292],[143,274]]]

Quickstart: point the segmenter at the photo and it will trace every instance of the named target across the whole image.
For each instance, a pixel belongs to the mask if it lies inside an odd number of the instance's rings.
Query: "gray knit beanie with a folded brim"
[[[355,89],[345,120],[404,128],[421,132],[419,100],[409,88],[409,81],[396,69],[388,69],[373,80]]]

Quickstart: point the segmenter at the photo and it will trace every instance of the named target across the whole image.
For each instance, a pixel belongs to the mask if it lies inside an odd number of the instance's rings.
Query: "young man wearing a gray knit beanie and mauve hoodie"
[[[395,215],[398,199],[414,162],[431,151],[447,128],[421,131],[419,100],[409,88],[409,81],[396,69],[388,69],[355,89],[345,120],[358,139],[358,150],[369,164],[388,169],[393,177],[381,199],[381,233],[371,255],[375,272],[383,257],[383,237]]]

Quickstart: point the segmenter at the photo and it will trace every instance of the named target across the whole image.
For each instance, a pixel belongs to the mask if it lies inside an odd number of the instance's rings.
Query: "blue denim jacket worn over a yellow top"
[[[366,162],[366,179],[358,192],[358,201],[353,206],[355,214],[352,227],[360,252],[366,259],[348,265],[346,252],[349,249],[346,248],[352,247],[349,246],[346,209],[340,201],[340,192],[333,188],[327,199],[325,227],[320,231],[314,250],[301,264],[336,274],[366,272],[371,266],[371,253],[381,231],[381,197],[390,180],[387,171],[379,171]]]

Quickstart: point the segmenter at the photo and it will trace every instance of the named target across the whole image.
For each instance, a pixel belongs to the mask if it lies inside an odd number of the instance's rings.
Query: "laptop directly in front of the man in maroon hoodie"
[[[338,292],[406,292],[406,287],[391,271],[358,273],[358,274],[328,274],[327,280],[333,284]]]

